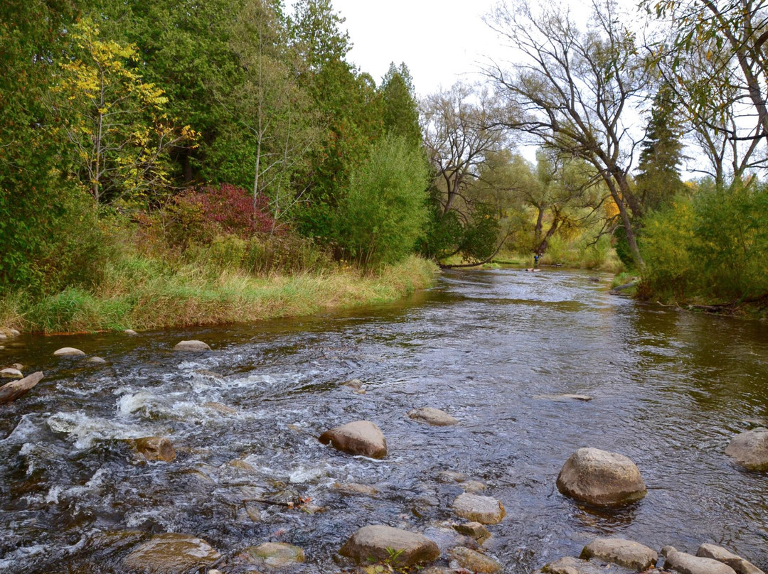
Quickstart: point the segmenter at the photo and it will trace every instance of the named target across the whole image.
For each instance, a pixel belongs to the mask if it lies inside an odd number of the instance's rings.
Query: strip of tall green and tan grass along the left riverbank
[[[108,265],[95,289],[70,287],[32,299],[0,300],[0,325],[21,332],[95,332],[188,327],[312,315],[396,301],[432,285],[437,266],[411,256],[376,272],[335,266],[318,272],[258,277],[240,269],[174,272],[135,260]]]

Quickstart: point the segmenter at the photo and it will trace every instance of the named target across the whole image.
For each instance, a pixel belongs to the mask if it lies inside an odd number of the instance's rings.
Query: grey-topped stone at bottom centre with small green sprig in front
[[[374,559],[412,566],[438,559],[440,550],[434,541],[418,533],[391,526],[363,526],[346,541],[339,554],[360,564]]]

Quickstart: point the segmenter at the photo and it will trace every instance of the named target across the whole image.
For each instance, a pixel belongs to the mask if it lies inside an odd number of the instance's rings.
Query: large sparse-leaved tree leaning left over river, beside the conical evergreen
[[[592,8],[592,24],[584,31],[553,2],[536,9],[527,0],[502,3],[488,22],[516,59],[492,65],[488,74],[508,103],[505,127],[581,158],[601,174],[632,258],[641,265],[634,225],[643,213],[629,170],[641,139],[633,130],[633,108],[645,96],[647,68],[614,2],[594,2]]]

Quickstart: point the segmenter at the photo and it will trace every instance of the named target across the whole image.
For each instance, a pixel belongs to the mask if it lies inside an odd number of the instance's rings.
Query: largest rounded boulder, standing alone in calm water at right
[[[558,490],[581,502],[609,506],[640,500],[647,490],[637,466],[623,454],[580,448],[565,461]]]

